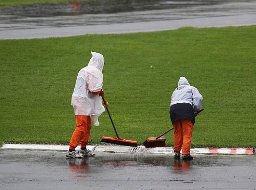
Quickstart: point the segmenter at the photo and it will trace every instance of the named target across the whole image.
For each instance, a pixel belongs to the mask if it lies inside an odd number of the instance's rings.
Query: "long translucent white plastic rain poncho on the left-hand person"
[[[102,106],[102,97],[92,92],[98,92],[102,89],[104,58],[100,53],[91,53],[92,58],[88,66],[83,67],[78,72],[71,105],[76,115],[90,116],[92,123],[98,126],[100,125],[98,118],[105,109]]]

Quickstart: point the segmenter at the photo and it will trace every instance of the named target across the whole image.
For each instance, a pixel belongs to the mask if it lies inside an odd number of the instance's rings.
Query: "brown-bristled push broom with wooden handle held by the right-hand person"
[[[204,111],[204,109],[201,109],[200,111],[198,111],[197,113],[195,113],[195,116],[197,116],[201,111]],[[163,147],[166,146],[165,144],[165,137],[163,137],[164,134],[168,133],[169,131],[173,130],[174,127],[172,127],[171,129],[167,130],[166,132],[164,132],[163,134],[159,135],[158,137],[148,137],[144,142],[143,145],[146,148],[155,148],[155,147]]]

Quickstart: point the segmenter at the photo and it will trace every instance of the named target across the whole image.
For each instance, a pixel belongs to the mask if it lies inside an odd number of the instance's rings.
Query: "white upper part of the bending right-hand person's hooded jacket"
[[[196,87],[190,86],[184,76],[180,77],[178,88],[176,88],[171,97],[171,105],[178,103],[189,103],[193,106],[194,112],[201,110],[203,96]]]

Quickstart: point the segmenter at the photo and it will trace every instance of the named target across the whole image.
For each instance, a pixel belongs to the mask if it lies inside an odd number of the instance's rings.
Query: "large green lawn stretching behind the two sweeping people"
[[[104,91],[119,136],[141,144],[171,127],[180,76],[204,97],[193,147],[256,146],[256,26],[0,40],[0,142],[68,144],[71,95],[90,51],[104,55]],[[115,137],[107,113],[90,143]],[[173,131],[166,134],[173,146]]]

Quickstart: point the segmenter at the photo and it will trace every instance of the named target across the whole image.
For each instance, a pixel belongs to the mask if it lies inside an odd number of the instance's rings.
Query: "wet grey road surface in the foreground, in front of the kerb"
[[[0,151],[0,189],[256,189],[255,155],[97,153],[66,159],[63,151]]]

